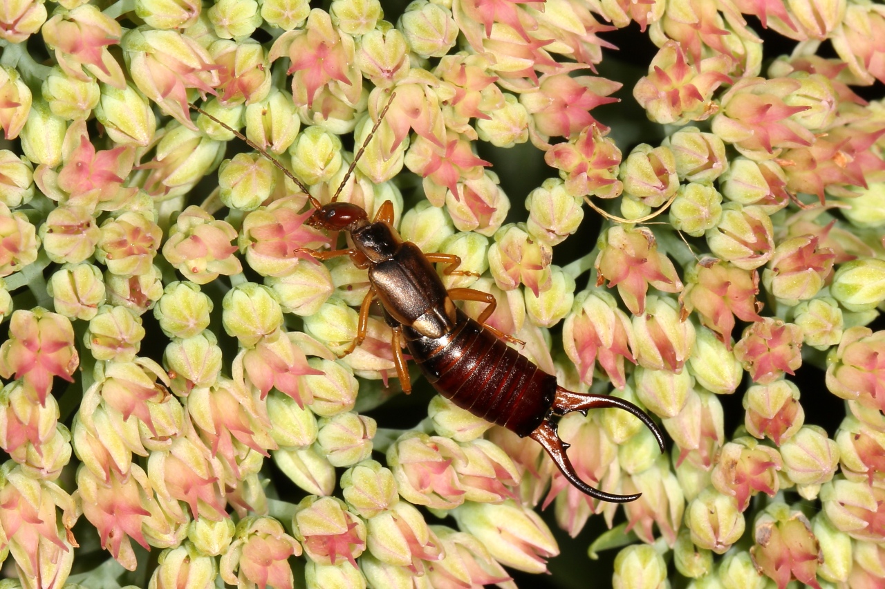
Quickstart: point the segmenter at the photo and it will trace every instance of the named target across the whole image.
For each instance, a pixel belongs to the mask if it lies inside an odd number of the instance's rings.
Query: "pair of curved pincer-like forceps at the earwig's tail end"
[[[635,417],[638,417],[655,435],[655,439],[658,440],[658,446],[661,448],[661,452],[664,452],[664,434],[660,431],[658,425],[651,420],[651,417],[649,417],[643,409],[639,409],[633,403],[624,401],[618,397],[611,397],[605,394],[573,393],[561,386],[557,386],[556,397],[554,398],[553,406],[550,409],[558,415],[564,415],[569,411],[581,411],[581,413],[586,414],[589,409],[611,408],[624,409],[635,415]],[[589,494],[590,497],[599,501],[627,503],[628,501],[636,501],[642,494],[613,495],[612,493],[600,491],[582,481],[581,478],[578,477],[578,473],[574,470],[572,461],[570,461],[568,455],[566,455],[568,444],[559,438],[556,427],[550,423],[549,419],[544,419],[535,432],[532,432],[531,437],[547,450],[547,454],[553,459],[553,463],[557,465],[558,469],[566,477],[566,480],[572,483],[573,486],[581,489],[582,492]]]

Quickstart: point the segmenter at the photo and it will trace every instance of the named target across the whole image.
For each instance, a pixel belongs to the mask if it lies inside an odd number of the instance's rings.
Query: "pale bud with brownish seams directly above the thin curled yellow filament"
[[[673,150],[664,146],[652,148],[647,143],[637,145],[620,164],[619,177],[625,195],[652,208],[666,203],[679,187]]]

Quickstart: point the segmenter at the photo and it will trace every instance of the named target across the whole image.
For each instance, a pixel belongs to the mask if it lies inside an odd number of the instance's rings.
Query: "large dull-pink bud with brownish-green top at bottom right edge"
[[[773,503],[754,524],[756,544],[750,556],[756,570],[780,587],[790,580],[820,586],[817,569],[823,561],[812,524],[801,511],[791,511],[784,503]]]

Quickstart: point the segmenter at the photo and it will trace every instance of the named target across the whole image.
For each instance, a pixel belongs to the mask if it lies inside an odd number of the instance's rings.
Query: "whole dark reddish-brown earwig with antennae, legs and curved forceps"
[[[396,95],[390,96],[389,103],[394,96]],[[305,194],[310,194],[304,183],[270,157],[264,149],[212,115],[191,106],[235,133],[252,149],[257,149],[294,181],[296,186],[304,190]],[[342,180],[342,187],[350,178],[358,158],[381,125],[386,112],[387,107],[381,111],[366,142],[354,156]],[[338,192],[340,190],[341,187]],[[335,202],[338,192],[332,202],[326,205],[320,205],[319,201],[309,196],[316,210],[308,224],[327,231],[346,231],[354,247],[307,251],[319,260],[350,256],[358,268],[368,270],[369,292],[360,305],[357,338],[350,350],[366,338],[369,310],[373,299],[377,298],[384,310],[385,320],[393,329],[391,347],[396,372],[405,393],[411,391],[411,382],[403,356],[403,343],[425,378],[439,394],[473,415],[503,425],[516,432],[519,437],[529,436],[536,440],[573,486],[601,501],[635,501],[640,493],[605,493],[581,480],[566,455],[568,445],[559,438],[550,417],[554,414],[565,415],[570,411],[586,414],[589,409],[624,409],[638,417],[651,430],[663,452],[664,438],[658,425],[631,402],[603,394],[573,393],[558,386],[556,377],[542,371],[526,356],[505,343],[505,340],[516,340],[485,325],[486,319],[496,308],[495,297],[472,288],[447,290],[443,286],[443,281],[432,264],[447,264],[444,273],[466,273],[456,270],[461,262],[458,256],[426,254],[411,241],[403,241],[393,228],[393,206],[389,201],[382,203],[375,218],[369,221],[366,210],[355,204]],[[485,302],[487,307],[474,320],[455,306],[453,301],[457,300]]]

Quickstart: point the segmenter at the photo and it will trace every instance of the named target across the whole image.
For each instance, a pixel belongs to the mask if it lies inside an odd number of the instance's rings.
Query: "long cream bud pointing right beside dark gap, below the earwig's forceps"
[[[541,573],[547,570],[544,559],[559,554],[556,540],[541,517],[513,501],[498,505],[467,502],[453,515],[458,527],[479,539],[504,566]]]

